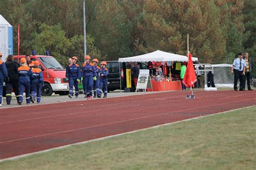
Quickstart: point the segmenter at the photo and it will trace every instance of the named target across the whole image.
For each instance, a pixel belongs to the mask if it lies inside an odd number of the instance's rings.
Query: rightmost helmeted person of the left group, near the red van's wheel
[[[34,68],[32,68],[32,76],[31,76],[31,88],[32,95],[30,97],[31,102],[33,103],[35,100],[37,103],[41,102],[41,90],[44,84],[43,72],[38,66],[40,65],[39,61],[34,62]]]

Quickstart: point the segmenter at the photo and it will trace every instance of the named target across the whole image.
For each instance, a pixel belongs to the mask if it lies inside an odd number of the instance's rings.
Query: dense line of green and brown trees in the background
[[[83,0],[0,0],[0,13],[21,27],[21,54],[83,60]],[[231,62],[240,51],[256,56],[256,1],[86,0],[87,53],[104,60],[162,51],[201,62]],[[17,46],[14,46],[17,54]]]

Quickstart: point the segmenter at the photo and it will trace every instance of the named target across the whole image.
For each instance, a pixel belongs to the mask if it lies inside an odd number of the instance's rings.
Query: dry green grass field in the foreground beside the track
[[[255,122],[256,106],[4,161],[0,169],[255,169]]]

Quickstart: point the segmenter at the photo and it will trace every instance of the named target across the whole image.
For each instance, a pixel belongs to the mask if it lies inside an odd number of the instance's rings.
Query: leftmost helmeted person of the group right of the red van
[[[78,97],[79,90],[78,90],[78,83],[81,79],[81,72],[80,67],[76,63],[77,57],[72,57],[72,63],[66,68],[66,80],[69,81],[69,97],[72,98],[73,96],[73,86],[75,86],[75,96]]]

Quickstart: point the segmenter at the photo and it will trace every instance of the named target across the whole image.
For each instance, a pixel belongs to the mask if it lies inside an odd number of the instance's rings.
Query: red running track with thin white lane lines
[[[256,104],[256,90],[189,93],[0,109],[0,159]]]

